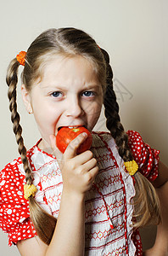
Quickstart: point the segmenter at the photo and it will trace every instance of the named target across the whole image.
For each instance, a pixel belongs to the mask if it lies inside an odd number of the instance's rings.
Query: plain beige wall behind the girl
[[[126,130],[139,131],[145,142],[160,149],[160,159],[168,165],[166,0],[1,0],[0,169],[18,156],[5,84],[8,62],[20,50],[26,50],[40,32],[61,26],[85,30],[109,51],[123,125]],[[19,110],[25,144],[30,148],[40,136],[33,117],[25,112],[20,96]],[[104,114],[96,129],[105,130]],[[152,242],[151,234],[148,237],[143,239],[145,247]],[[1,255],[19,255],[15,247],[8,247],[7,237],[2,231],[0,247]]]

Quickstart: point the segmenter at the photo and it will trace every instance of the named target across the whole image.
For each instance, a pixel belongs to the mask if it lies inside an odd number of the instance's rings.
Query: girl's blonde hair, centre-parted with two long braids
[[[109,55],[104,49],[99,49],[94,39],[92,39],[86,32],[75,28],[49,29],[37,37],[27,50],[25,67],[21,75],[26,90],[31,91],[33,82],[36,79],[42,78],[43,67],[45,67],[46,63],[56,55],[64,55],[67,57],[81,55],[88,61],[91,61],[92,67],[94,67],[98,80],[102,84],[104,90],[104,107],[107,118],[107,127],[111,132],[112,137],[115,138],[115,143],[119,148],[119,154],[123,160],[132,160],[132,153],[128,147],[128,137],[123,126],[120,124],[119,107],[113,90],[113,73],[109,65]],[[16,104],[19,66],[20,63],[14,58],[8,66],[6,81],[8,84],[11,120],[14,124],[13,130],[25,169],[25,180],[27,184],[31,184],[31,168],[26,156],[26,148],[22,137],[22,128],[20,126],[20,115],[17,112]],[[109,95],[111,94],[112,97],[110,98]],[[159,201],[152,184],[139,172],[137,172],[135,178],[137,193],[134,204],[137,223],[134,225],[138,227],[147,224],[148,220],[151,217],[155,217],[155,215],[158,218],[158,216],[160,216],[160,210]],[[37,235],[42,241],[49,244],[53,236],[57,221],[56,218],[45,212],[32,196],[29,198],[29,205],[31,220],[35,226]]]

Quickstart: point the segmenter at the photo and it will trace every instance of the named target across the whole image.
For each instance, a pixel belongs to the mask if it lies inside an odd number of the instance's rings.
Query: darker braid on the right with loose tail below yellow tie
[[[101,49],[107,66],[107,90],[104,95],[104,107],[106,126],[114,137],[120,157],[126,162],[133,160],[132,151],[128,146],[128,136],[120,123],[119,105],[116,102],[115,91],[113,90],[113,72],[109,65],[109,55]],[[134,227],[138,228],[146,224],[159,224],[160,202],[153,185],[140,172],[134,175],[136,183],[136,195],[133,198],[134,205]],[[142,193],[143,191],[143,193]]]

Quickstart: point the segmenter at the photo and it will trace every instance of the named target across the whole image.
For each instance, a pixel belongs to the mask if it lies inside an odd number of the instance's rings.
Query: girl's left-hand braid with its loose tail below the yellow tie
[[[13,122],[13,130],[16,137],[16,142],[18,143],[18,150],[25,170],[25,181],[28,185],[32,183],[31,167],[29,165],[29,160],[26,156],[27,150],[24,145],[24,140],[22,137],[22,128],[20,125],[20,114],[17,112],[16,103],[16,88],[18,83],[18,69],[20,62],[14,59],[10,62],[8,66],[6,82],[8,84],[8,99],[9,99],[9,109],[11,111],[11,120]],[[35,201],[34,197],[31,195],[29,197],[29,206],[31,213],[31,221],[34,224],[37,235],[46,244],[49,244],[52,237],[53,231],[56,224],[56,218],[45,212],[42,207],[40,207]]]

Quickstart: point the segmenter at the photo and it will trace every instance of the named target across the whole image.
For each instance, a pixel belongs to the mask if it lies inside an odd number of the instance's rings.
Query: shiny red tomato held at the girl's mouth
[[[79,148],[77,149],[76,154],[81,154],[82,152],[86,151],[87,149],[91,148],[92,145],[92,134],[88,131],[85,127],[62,127],[56,136],[56,143],[59,150],[64,153],[64,150],[67,148],[68,144],[75,139],[80,133],[86,132],[87,138],[86,140],[81,143]]]

